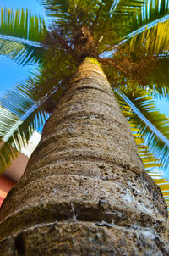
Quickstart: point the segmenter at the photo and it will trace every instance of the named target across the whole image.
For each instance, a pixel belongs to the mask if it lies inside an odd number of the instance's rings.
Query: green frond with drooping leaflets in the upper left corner
[[[7,54],[19,64],[42,62],[41,39],[45,32],[43,20],[27,10],[1,8],[0,54]]]

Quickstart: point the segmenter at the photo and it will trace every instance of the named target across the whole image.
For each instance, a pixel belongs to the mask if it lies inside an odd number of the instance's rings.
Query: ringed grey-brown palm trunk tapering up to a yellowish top
[[[0,255],[169,255],[166,204],[97,64],[80,64],[0,216]]]

